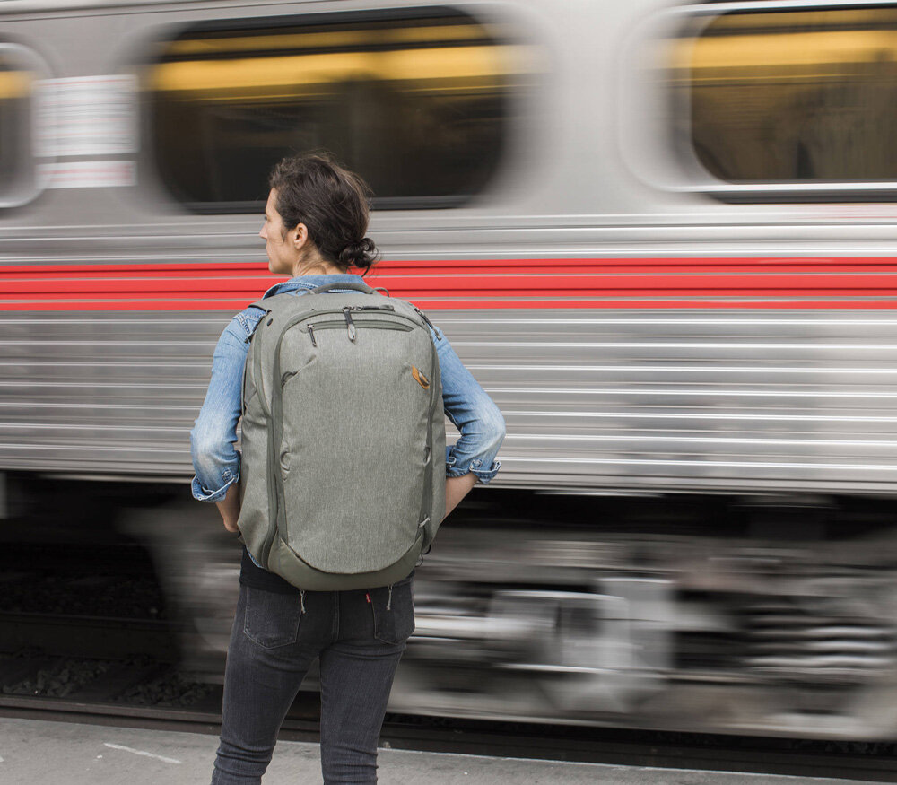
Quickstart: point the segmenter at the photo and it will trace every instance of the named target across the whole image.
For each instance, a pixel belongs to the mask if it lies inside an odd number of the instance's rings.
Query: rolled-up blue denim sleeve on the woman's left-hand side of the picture
[[[258,311],[258,316],[261,312]],[[190,453],[196,476],[191,484],[199,502],[218,502],[239,480],[237,440],[243,365],[249,351],[247,338],[258,318],[238,314],[224,328],[212,358],[212,379],[205,402],[190,432]]]

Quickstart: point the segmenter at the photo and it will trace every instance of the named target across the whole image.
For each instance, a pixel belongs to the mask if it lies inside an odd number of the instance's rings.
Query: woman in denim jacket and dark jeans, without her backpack
[[[281,161],[272,172],[265,225],[268,269],[291,275],[265,296],[300,296],[325,283],[361,282],[370,269],[367,187],[320,155]],[[326,293],[322,296],[326,296]],[[193,495],[215,502],[224,527],[237,532],[239,454],[233,447],[241,410],[243,365],[262,311],[243,310],[215,348],[212,380],[191,432]],[[492,399],[458,360],[438,327],[443,405],[461,438],[446,449],[446,514],[477,483],[488,483],[504,421]],[[346,402],[351,406],[352,402]],[[363,467],[361,469],[363,471]],[[350,482],[334,469],[334,483]],[[321,674],[321,769],[326,785],[377,781],[377,741],[396,666],[414,632],[412,576],[387,589],[316,592],[293,587],[254,563],[243,548],[240,594],[224,677],[221,746],[213,785],[260,782],[283,717],[312,661]],[[384,613],[388,604],[389,613]]]

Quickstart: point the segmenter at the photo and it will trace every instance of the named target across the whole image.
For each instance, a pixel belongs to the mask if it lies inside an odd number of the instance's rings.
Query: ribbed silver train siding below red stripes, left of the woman
[[[189,429],[228,316],[0,317],[0,466],[187,477]]]

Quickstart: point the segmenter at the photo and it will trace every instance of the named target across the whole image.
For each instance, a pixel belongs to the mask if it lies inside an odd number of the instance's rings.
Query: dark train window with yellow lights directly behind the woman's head
[[[161,178],[200,212],[254,212],[284,155],[326,149],[380,208],[456,205],[501,159],[523,47],[445,8],[196,26],[146,74]]]

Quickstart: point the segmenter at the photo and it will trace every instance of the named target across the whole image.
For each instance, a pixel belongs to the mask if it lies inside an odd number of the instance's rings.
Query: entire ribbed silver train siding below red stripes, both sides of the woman
[[[4,312],[0,467],[186,480],[230,316]],[[893,311],[431,316],[505,414],[495,484],[897,491]]]

